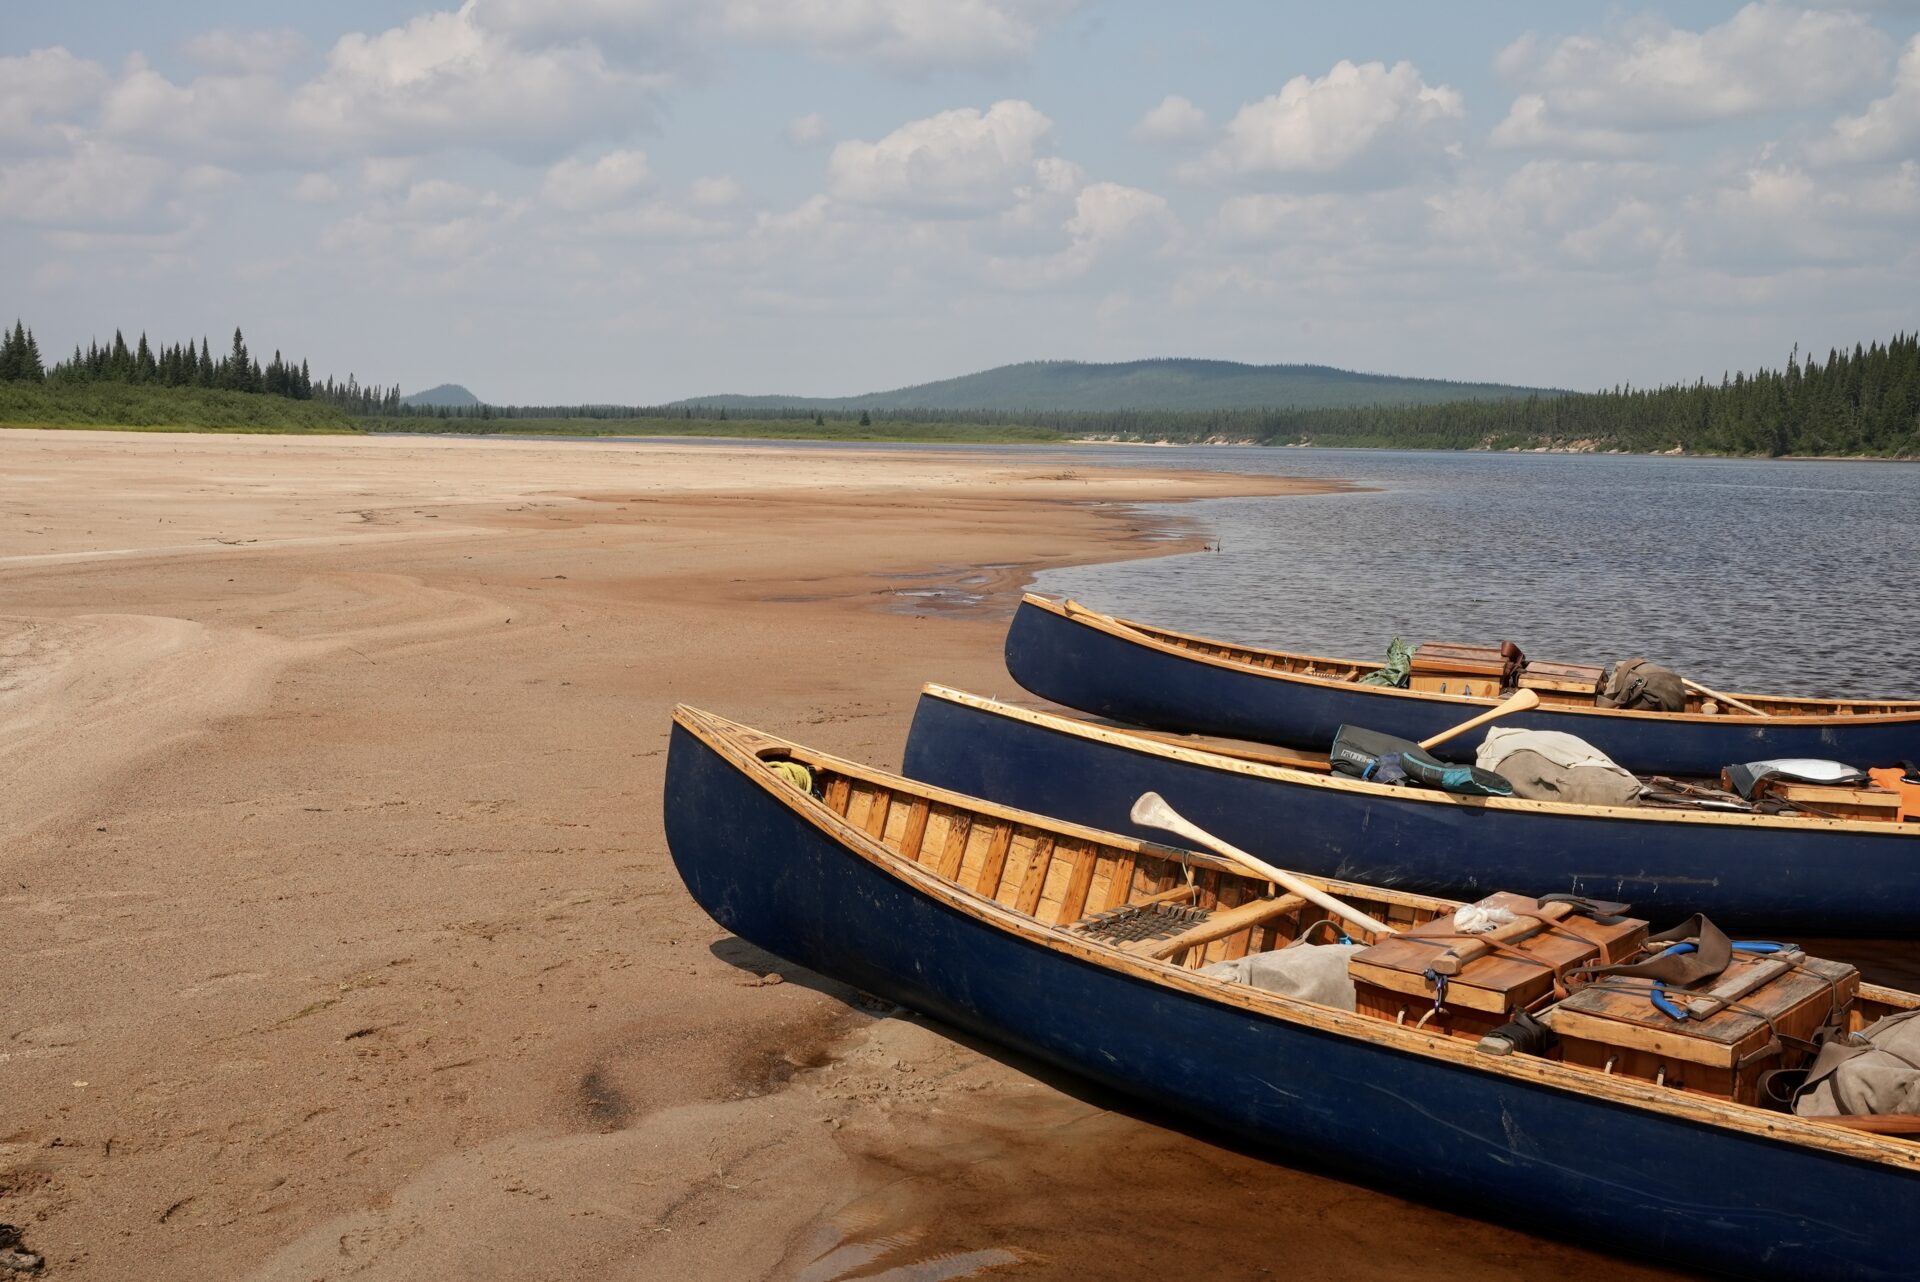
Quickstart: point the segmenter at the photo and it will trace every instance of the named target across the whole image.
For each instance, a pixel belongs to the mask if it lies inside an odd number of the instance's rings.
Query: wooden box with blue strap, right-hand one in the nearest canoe
[[[1734,983],[1766,962],[1766,956],[1736,952],[1734,962],[1699,990]],[[1807,1057],[1784,1050],[1774,1029],[1782,1038],[1809,1038],[1836,1008],[1853,1000],[1859,986],[1860,973],[1851,965],[1805,958],[1799,969],[1738,998],[1734,1008],[1680,1021],[1653,1008],[1645,981],[1601,979],[1555,1006],[1546,1019],[1559,1034],[1567,1063],[1757,1104],[1761,1073],[1793,1069]],[[1668,1000],[1686,1006],[1701,996],[1699,990],[1668,988]]]

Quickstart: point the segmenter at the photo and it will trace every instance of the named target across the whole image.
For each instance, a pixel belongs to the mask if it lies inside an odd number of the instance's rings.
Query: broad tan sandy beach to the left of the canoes
[[[924,679],[1012,693],[1035,568],[1200,545],[1127,503],[1306,487],[0,432],[0,1219],[156,1282],[1670,1276],[1185,1134],[674,877],[676,700],[893,764]]]

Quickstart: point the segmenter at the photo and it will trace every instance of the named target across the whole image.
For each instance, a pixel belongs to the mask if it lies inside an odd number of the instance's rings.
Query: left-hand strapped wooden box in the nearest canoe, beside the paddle
[[[1480,904],[1513,912],[1534,908],[1532,898],[1505,890],[1486,896]],[[1459,975],[1448,979],[1438,1011],[1427,971],[1450,946],[1473,938],[1455,935],[1450,915],[1356,952],[1348,971],[1363,1013],[1407,1025],[1425,1017],[1423,1027],[1434,1033],[1480,1038],[1507,1023],[1515,1009],[1549,998],[1557,973],[1574,965],[1622,962],[1640,950],[1645,937],[1645,921],[1601,925],[1592,917],[1567,917],[1513,944],[1538,962],[1496,950],[1463,965]]]

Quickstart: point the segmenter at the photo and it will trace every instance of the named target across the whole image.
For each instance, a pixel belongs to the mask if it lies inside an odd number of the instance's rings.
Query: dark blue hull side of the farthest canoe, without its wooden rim
[[[1342,725],[1421,741],[1484,708],[1354,683],[1325,683],[1208,662],[1114,635],[1023,601],[1006,633],[1006,670],[1041,699],[1152,729],[1254,739],[1325,752]],[[1634,773],[1716,777],[1724,766],[1780,756],[1882,766],[1920,756],[1920,722],[1849,718],[1667,720],[1536,708],[1500,725],[1586,739]],[[1436,750],[1473,760],[1484,731]]]

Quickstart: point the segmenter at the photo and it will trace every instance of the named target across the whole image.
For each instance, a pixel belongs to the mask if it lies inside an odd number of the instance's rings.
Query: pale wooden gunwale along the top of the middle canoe
[[[1263,754],[1258,752],[1215,752],[1212,748],[1173,743],[1169,737],[1150,731],[1137,731],[1117,725],[1094,725],[1092,722],[1081,722],[1077,718],[1058,716],[1054,712],[1043,712],[1039,708],[1021,708],[1020,704],[1002,702],[998,699],[970,695],[968,691],[952,689],[950,685],[939,685],[935,681],[927,681],[925,685],[922,685],[920,693],[929,699],[945,699],[948,702],[964,704],[968,708],[979,708],[981,712],[993,712],[995,716],[1008,716],[1018,722],[1027,722],[1029,725],[1041,725],[1044,729],[1060,731],[1066,735],[1079,735],[1081,739],[1096,739],[1100,743],[1119,745],[1133,752],[1148,752],[1152,756],[1162,756],[1171,762],[1187,762],[1190,766],[1204,766],[1208,770],[1225,770],[1240,775],[1279,779],[1283,783],[1296,783],[1302,787],[1327,789],[1334,793],[1382,796],[1396,802],[1413,802],[1423,806],[1459,806],[1465,810],[1492,810],[1492,812],[1515,812],[1515,814],[1553,814],[1553,816],[1588,818],[1588,819],[1620,819],[1630,823],[1707,823],[1711,827],[1764,827],[1764,829],[1782,829],[1795,833],[1807,833],[1807,831],[1872,833],[1889,839],[1920,837],[1920,823],[1907,827],[1901,823],[1889,823],[1885,819],[1824,819],[1820,816],[1776,816],[1776,814],[1747,814],[1734,810],[1680,810],[1680,808],[1661,808],[1661,806],[1582,806],[1576,802],[1532,800],[1526,796],[1465,796],[1459,793],[1442,793],[1440,789],[1398,787],[1392,783],[1373,783],[1367,779],[1354,779],[1350,775],[1340,775],[1332,772],[1317,772],[1317,770],[1302,770],[1298,766],[1286,766],[1277,756],[1263,758]]]

